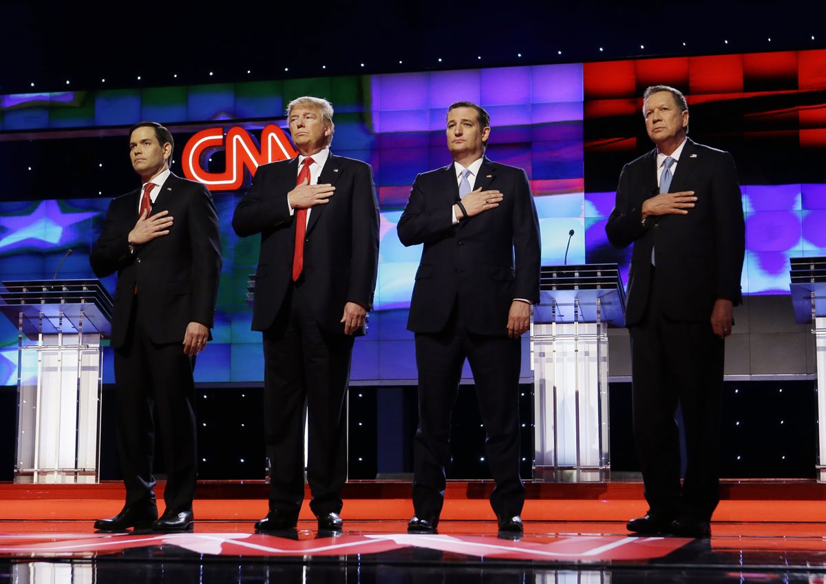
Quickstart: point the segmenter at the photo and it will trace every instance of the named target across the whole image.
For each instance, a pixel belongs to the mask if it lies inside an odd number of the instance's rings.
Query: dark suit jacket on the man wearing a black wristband
[[[409,330],[439,332],[458,303],[468,330],[506,335],[514,298],[539,302],[539,219],[525,171],[485,158],[477,188],[497,189],[504,199],[499,207],[454,226],[451,207],[458,200],[458,181],[453,164],[421,173],[413,183],[398,223],[403,245],[425,244]]]

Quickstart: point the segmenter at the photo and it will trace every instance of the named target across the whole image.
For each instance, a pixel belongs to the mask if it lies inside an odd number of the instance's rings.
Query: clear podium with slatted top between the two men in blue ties
[[[624,315],[616,264],[542,268],[531,323],[534,481],[607,479],[607,327]]]

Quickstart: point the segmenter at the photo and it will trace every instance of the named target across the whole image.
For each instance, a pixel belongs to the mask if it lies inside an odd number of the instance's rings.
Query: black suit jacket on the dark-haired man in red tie
[[[112,347],[126,339],[135,286],[142,306],[154,316],[155,343],[182,342],[190,322],[211,328],[221,277],[221,237],[212,197],[202,183],[170,174],[152,206],[169,211],[169,235],[129,249],[138,220],[140,188],[109,203],[101,235],[89,261],[98,278],[117,272]]]

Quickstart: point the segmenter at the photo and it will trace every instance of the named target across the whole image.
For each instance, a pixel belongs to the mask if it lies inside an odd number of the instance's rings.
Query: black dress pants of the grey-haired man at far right
[[[714,335],[710,313],[702,322],[664,316],[670,299],[652,269],[646,314],[630,327],[634,442],[645,498],[657,514],[710,520],[719,502],[724,341]],[[686,435],[682,486],[678,403]]]

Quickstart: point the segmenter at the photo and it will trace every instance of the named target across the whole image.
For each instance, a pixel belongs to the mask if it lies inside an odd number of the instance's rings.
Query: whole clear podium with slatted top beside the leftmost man
[[[0,311],[17,328],[14,481],[97,482],[112,297],[94,279],[3,282]]]

